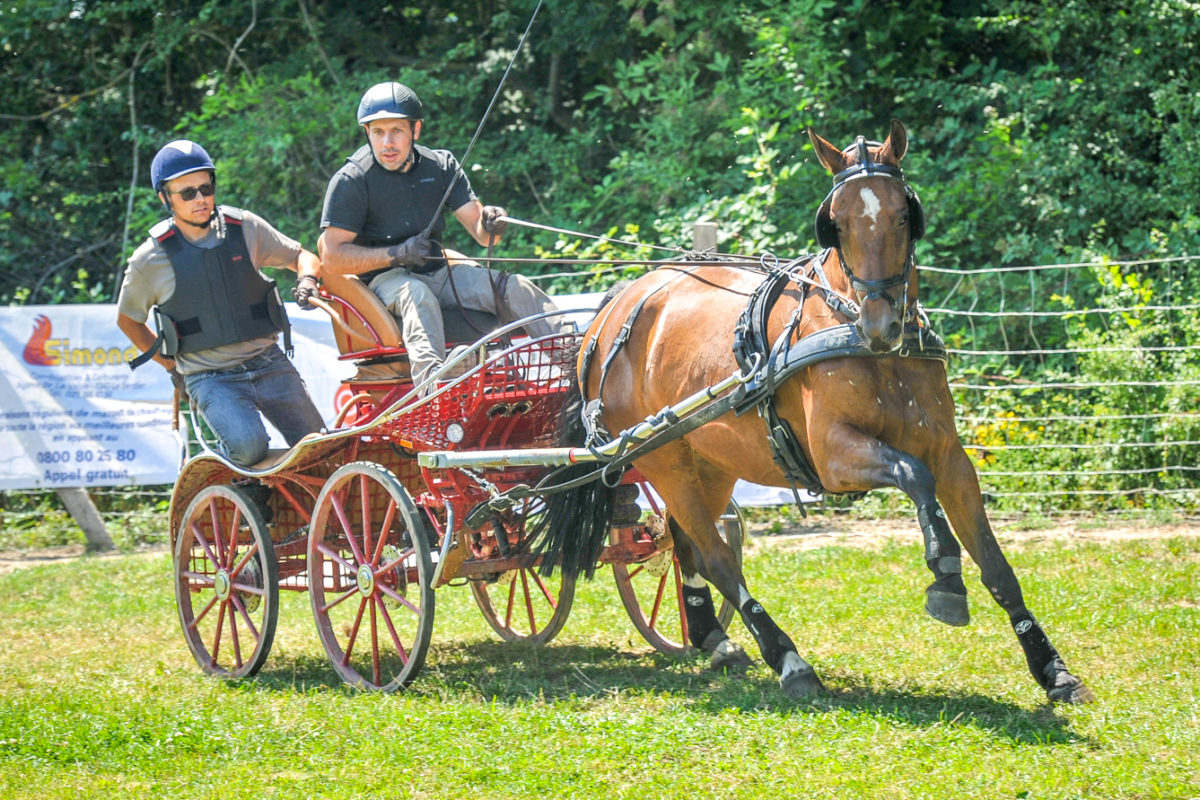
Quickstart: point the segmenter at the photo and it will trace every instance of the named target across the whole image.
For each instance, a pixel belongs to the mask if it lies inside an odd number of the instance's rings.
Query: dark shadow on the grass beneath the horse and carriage
[[[1086,741],[1050,704],[1028,710],[978,693],[946,693],[920,685],[869,686],[860,675],[827,673],[826,690],[799,700],[785,697],[775,674],[762,663],[745,673],[708,668],[708,657],[671,657],[611,644],[550,644],[498,640],[434,643],[425,667],[406,690],[415,697],[455,696],[524,705],[545,702],[604,702],[626,696],[668,694],[701,714],[869,714],[912,728],[972,727],[1014,744]],[[272,658],[246,688],[272,692],[358,694],[341,684],[324,657],[289,654]],[[1039,692],[1030,686],[1031,692]]]

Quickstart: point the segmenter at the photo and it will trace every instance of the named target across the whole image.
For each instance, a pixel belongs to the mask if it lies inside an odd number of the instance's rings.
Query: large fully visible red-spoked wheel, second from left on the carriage
[[[408,491],[372,462],[340,467],[317,495],[308,596],[317,634],[343,681],[410,684],[433,632],[428,528]]]

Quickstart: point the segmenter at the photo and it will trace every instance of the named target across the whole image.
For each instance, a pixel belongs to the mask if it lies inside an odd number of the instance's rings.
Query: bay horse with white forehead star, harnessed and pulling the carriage
[[[774,281],[745,263],[660,265],[607,302],[582,339],[578,384],[593,439],[596,431],[625,431],[648,420],[744,369],[751,357],[755,365],[780,365],[788,351],[822,335],[852,341],[828,357],[758,381],[767,393],[755,402],[757,414],[744,413],[749,408],[726,413],[634,461],[667,509],[685,576],[689,638],[713,654],[714,664],[749,662],[716,620],[707,585],[713,584],[740,610],[782,691],[793,698],[818,692],[812,666],[748,589],[716,519],[739,477],[833,494],[896,487],[917,506],[934,576],[925,610],[949,625],[967,624],[961,541],[984,587],[1008,613],[1048,698],[1091,702],[1091,690],[1067,669],[1026,608],[996,542],[978,476],[959,444],[943,360],[912,357],[931,332],[917,302],[913,255],[924,212],[900,169],[907,133],[893,121],[883,143],[858,137],[845,150],[811,130],[809,138],[834,175],[816,218],[823,252],[773,270]],[[766,344],[755,350],[749,339]],[[595,487],[581,491],[592,492],[588,503],[595,500]],[[551,505],[577,510],[580,499],[568,495],[552,495]],[[575,528],[565,535],[600,537],[607,530]],[[590,569],[583,566],[594,552],[589,548],[575,541],[552,552],[582,554],[578,563],[562,560],[564,570],[578,571]]]

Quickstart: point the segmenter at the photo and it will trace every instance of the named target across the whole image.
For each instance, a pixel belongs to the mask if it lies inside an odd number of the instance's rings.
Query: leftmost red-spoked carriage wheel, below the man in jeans
[[[221,678],[258,672],[280,613],[278,564],[258,507],[232,486],[208,486],[175,539],[175,607],[200,669]]]

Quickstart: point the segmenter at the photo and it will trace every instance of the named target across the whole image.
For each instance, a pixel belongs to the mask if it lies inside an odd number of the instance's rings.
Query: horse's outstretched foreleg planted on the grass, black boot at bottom
[[[1008,614],[1033,679],[1052,703],[1091,703],[1096,699],[1092,691],[1067,669],[1033,612],[1025,606],[1021,585],[984,513],[979,481],[965,453],[950,459],[942,482],[954,487],[953,492],[943,492],[954,530],[959,531],[971,558],[979,565],[983,585]]]

